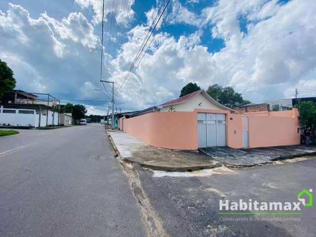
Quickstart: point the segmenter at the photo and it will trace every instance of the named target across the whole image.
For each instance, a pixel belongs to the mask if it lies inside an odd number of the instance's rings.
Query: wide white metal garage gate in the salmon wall
[[[225,114],[197,113],[198,147],[226,146]]]

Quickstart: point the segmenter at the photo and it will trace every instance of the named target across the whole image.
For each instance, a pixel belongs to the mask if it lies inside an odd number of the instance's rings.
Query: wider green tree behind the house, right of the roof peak
[[[248,100],[243,100],[242,95],[235,92],[234,88],[231,86],[223,87],[218,84],[214,84],[209,86],[206,92],[218,103],[221,103],[229,108],[250,103]]]

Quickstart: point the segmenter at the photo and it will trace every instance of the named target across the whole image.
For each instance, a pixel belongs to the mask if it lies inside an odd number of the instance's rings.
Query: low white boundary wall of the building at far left
[[[6,114],[3,113],[3,108],[1,106],[0,110],[0,124],[10,124],[13,126],[35,126],[38,127],[39,123],[36,123],[36,111],[35,110],[28,110],[28,111],[34,111],[34,114],[19,114],[19,110],[15,109],[5,109],[5,110],[12,110],[15,111],[15,114]],[[24,109],[23,109],[24,110]]]

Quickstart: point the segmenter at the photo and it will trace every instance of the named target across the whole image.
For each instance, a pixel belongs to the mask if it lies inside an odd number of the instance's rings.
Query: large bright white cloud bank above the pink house
[[[123,101],[134,101],[135,108],[159,104],[178,96],[181,87],[193,81],[204,88],[213,83],[231,85],[245,99],[262,102],[287,97],[285,91],[294,91],[298,81],[313,79],[305,77],[316,68],[315,1],[292,0],[281,5],[274,0],[219,0],[202,15],[213,37],[222,38],[225,47],[212,54],[193,40],[199,37],[175,40],[158,34],[153,52],[124,85]],[[241,32],[240,17],[250,21],[247,33]],[[124,75],[146,28],[136,27],[130,34],[113,61],[116,75]],[[116,77],[118,84],[122,79]]]

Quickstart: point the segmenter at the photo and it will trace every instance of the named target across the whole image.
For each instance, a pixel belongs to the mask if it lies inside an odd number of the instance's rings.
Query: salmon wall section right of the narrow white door
[[[249,147],[273,147],[300,144],[298,118],[248,117]]]

